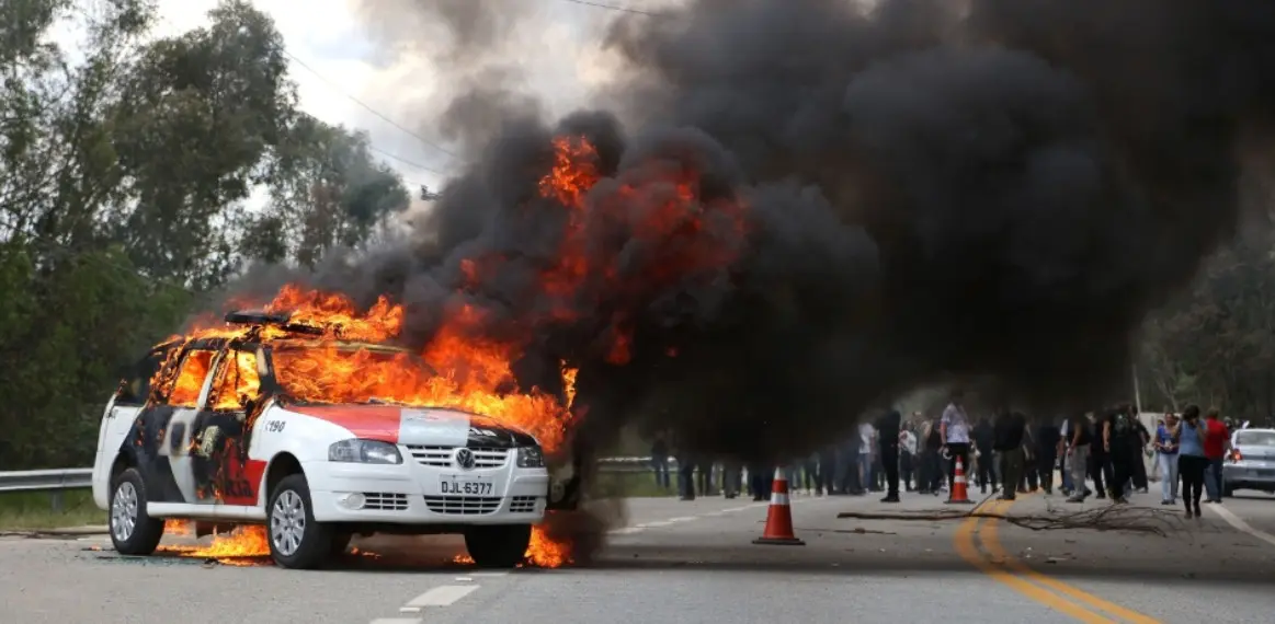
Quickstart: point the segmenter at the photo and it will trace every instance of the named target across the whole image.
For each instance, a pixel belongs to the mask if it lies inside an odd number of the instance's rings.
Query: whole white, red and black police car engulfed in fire
[[[238,329],[154,348],[107,404],[93,499],[117,551],[150,554],[164,520],[186,518],[265,525],[286,568],[374,532],[456,532],[478,565],[523,560],[550,493],[533,436],[375,396],[386,367],[422,386],[436,376],[403,349],[279,315],[226,320]]]

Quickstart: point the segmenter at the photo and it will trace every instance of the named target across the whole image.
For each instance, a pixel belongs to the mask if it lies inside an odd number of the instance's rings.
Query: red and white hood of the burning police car
[[[467,411],[394,405],[288,405],[288,411],[349,429],[356,438],[394,444],[513,448],[536,438],[500,420]]]

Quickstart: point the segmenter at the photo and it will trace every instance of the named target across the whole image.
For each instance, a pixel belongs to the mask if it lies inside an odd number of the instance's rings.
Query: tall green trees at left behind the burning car
[[[268,15],[208,18],[154,37],[148,0],[0,1],[0,470],[88,465],[122,367],[201,294],[409,205],[366,134],[298,110]]]

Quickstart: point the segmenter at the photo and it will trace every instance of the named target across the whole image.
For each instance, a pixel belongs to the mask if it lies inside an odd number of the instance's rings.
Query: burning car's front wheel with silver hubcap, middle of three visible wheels
[[[315,522],[305,475],[284,476],[270,490],[265,534],[270,557],[280,568],[321,568],[332,557],[333,532],[332,526]]]

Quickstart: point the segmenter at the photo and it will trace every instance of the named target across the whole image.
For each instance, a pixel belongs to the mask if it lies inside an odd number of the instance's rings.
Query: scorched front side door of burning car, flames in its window
[[[260,351],[254,348],[224,351],[191,425],[195,490],[213,504],[256,504],[265,461],[249,458],[249,432],[250,414],[260,399]]]

